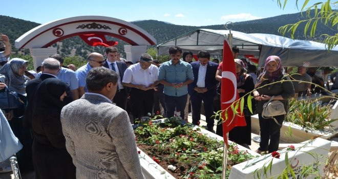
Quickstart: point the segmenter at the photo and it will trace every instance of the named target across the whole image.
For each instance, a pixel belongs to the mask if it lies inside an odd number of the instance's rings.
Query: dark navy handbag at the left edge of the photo
[[[9,89],[7,86],[5,91],[0,92],[0,109],[15,109],[24,104],[24,101],[18,97],[17,93]]]

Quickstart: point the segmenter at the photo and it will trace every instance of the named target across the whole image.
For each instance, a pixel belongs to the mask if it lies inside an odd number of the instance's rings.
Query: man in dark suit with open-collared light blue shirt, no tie
[[[207,130],[213,131],[213,102],[216,96],[216,85],[218,83],[215,79],[215,74],[218,64],[209,61],[210,53],[207,51],[199,51],[197,57],[198,61],[191,63],[194,82],[188,85],[188,93],[192,101],[193,124],[199,125],[199,120],[201,119],[201,104],[203,101]]]

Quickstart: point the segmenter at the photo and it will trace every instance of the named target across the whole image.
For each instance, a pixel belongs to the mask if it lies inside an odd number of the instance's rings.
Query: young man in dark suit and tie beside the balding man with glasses
[[[123,74],[127,69],[127,66],[124,62],[117,61],[118,50],[116,47],[108,47],[105,49],[105,56],[107,59],[104,63],[104,67],[115,71],[118,75],[118,87],[113,102],[121,107],[123,110],[126,109],[126,101],[128,97],[128,88],[122,85]]]

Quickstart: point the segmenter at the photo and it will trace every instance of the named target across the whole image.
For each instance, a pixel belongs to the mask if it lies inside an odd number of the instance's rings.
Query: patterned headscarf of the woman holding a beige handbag
[[[266,65],[271,62],[274,61],[278,64],[277,66],[277,70],[269,73],[266,70]],[[268,80],[269,82],[274,82],[276,81],[281,75],[283,75],[285,73],[284,68],[282,68],[282,61],[278,56],[269,56],[266,58],[265,60],[265,64],[264,64],[264,70],[263,72],[259,75],[259,77],[257,78],[258,81],[255,85],[255,87],[258,87],[263,81]]]

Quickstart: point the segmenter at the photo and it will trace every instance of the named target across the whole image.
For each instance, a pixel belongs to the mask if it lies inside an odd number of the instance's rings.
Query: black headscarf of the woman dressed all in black
[[[60,101],[69,85],[56,78],[48,78],[41,82],[34,93],[31,101],[34,105],[32,116],[50,114],[51,112],[61,113],[62,107],[68,104],[67,100]]]

